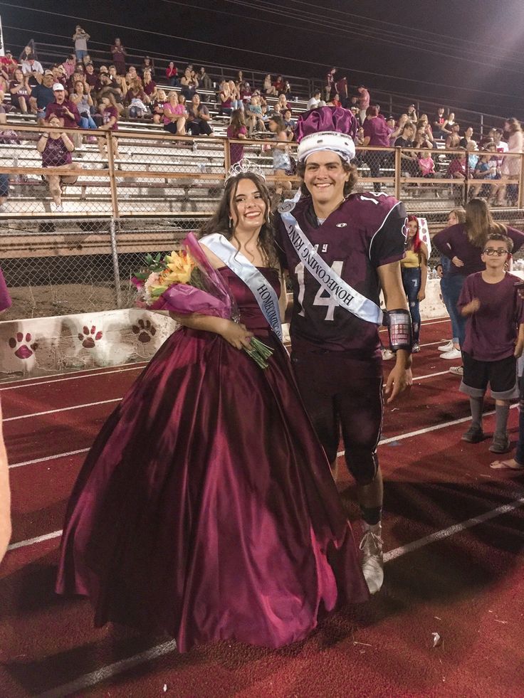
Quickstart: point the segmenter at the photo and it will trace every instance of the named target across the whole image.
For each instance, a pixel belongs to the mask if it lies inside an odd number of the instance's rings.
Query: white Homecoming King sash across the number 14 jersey
[[[366,322],[382,324],[382,310],[379,306],[342,280],[318,255],[313,243],[306,238],[296,218],[291,215],[290,211],[293,211],[295,206],[294,203],[290,206],[290,203],[291,201],[284,201],[278,207],[278,212],[285,223],[285,231],[288,233],[291,244],[308,272],[315,277],[339,307]]]

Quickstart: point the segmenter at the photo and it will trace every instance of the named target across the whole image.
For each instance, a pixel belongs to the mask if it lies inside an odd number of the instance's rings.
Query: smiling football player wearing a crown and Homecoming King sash
[[[276,242],[293,284],[290,336],[295,378],[332,465],[342,432],[364,520],[362,571],[374,593],[384,578],[383,492],[377,459],[383,413],[380,286],[390,315],[396,311],[396,317],[403,318],[404,337],[409,337],[395,347],[397,361],[385,388],[388,402],[411,384],[412,336],[399,266],[406,212],[392,196],[352,194],[357,180],[350,164],[355,146],[347,134],[353,122],[351,112],[340,107],[320,107],[299,117],[301,196],[278,207]],[[308,249],[315,252],[306,254]],[[329,285],[323,285],[320,277],[330,278]],[[362,310],[353,312],[349,309],[356,297]]]

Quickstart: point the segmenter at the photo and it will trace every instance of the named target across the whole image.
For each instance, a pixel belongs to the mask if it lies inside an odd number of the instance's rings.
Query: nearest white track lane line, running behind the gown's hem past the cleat
[[[424,536],[424,538],[418,541],[413,541],[407,545],[400,546],[390,550],[384,554],[384,563],[396,560],[402,555],[410,553],[414,550],[418,550],[426,545],[434,543],[435,541],[441,541],[450,536],[454,536],[457,533],[466,531],[466,529],[471,529],[473,526],[482,524],[483,522],[489,521],[490,519],[495,519],[502,514],[507,514],[508,512],[518,509],[524,505],[524,497],[519,497],[509,504],[503,504],[501,507],[492,509],[484,514],[479,514],[478,517],[473,517],[472,519],[467,519],[460,524],[455,524],[447,529],[442,529],[429,536]],[[83,691],[90,687],[95,686],[103,681],[110,680],[117,677],[117,675],[122,674],[132,667],[144,664],[145,662],[150,662],[151,660],[157,659],[157,657],[162,657],[163,655],[169,654],[169,652],[174,652],[177,649],[177,643],[174,640],[170,640],[167,643],[162,643],[162,645],[156,645],[151,647],[150,650],[145,650],[145,652],[140,652],[140,654],[133,655],[132,657],[127,657],[125,660],[120,660],[120,662],[115,662],[114,664],[101,667],[100,669],[90,672],[90,674],[84,674],[78,677],[74,681],[67,684],[62,684],[57,686],[45,693],[41,693],[37,698],[62,698],[79,691]]]

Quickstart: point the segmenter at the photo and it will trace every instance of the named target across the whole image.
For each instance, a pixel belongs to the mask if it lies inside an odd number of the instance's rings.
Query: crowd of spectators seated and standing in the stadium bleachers
[[[105,139],[97,138],[95,132],[99,136],[106,130],[117,132],[122,120],[151,122],[179,136],[210,136],[220,124],[227,127],[226,135],[230,139],[273,137],[281,142],[295,139],[296,118],[301,109],[295,104],[290,82],[284,75],[276,75],[273,80],[266,74],[261,85],[251,85],[239,70],[234,78],[214,83],[204,66],[197,69],[189,64],[179,70],[171,60],[167,68],[159,69],[150,56],[145,56],[141,65],[132,65],[118,37],[108,52],[111,60],[95,65],[88,52],[90,36],[81,26],[76,26],[72,40],[74,52],[62,62],[42,65],[33,41],[23,49],[19,60],[10,51],[0,58],[0,127],[8,125],[11,112],[34,115],[39,127],[51,125],[51,119],[57,117],[63,127],[93,130],[92,135],[79,132],[72,137],[73,149],[78,150],[83,141],[98,144],[103,161]],[[434,115],[418,115],[412,103],[397,117],[384,115],[380,105],[372,101],[366,85],[352,88],[347,75],[336,68],[327,73],[324,88],[310,95],[305,108],[311,110],[324,105],[341,106],[352,112],[359,125],[357,146],[401,147],[404,176],[424,179],[440,176],[457,180],[457,184],[468,176],[472,197],[486,196],[495,206],[515,203],[518,185],[498,185],[496,180],[517,180],[520,174],[519,159],[504,157],[507,152],[523,150],[522,129],[516,119],[508,119],[504,129],[476,135],[471,125],[461,126],[454,112],[446,113],[444,107],[439,107]],[[0,140],[16,142],[16,132],[4,128]],[[63,138],[44,134],[39,144],[43,147],[44,166],[70,164],[72,151]],[[439,148],[456,150],[456,154],[451,156],[451,161],[448,158],[443,163],[434,154]],[[48,154],[51,150],[53,157]],[[230,154],[231,163],[238,162],[243,157],[241,144],[232,143]],[[119,157],[118,152],[115,155]],[[391,152],[357,153],[357,164],[369,168],[375,191],[380,191],[380,176],[384,169],[392,168],[392,162]],[[292,171],[285,143],[273,147],[273,167],[277,174]],[[6,187],[0,184],[3,194]],[[283,182],[278,189],[287,186]],[[58,189],[53,189],[53,201],[61,210]],[[453,189],[456,205],[463,203],[461,186]],[[424,186],[414,184],[411,190],[416,197],[424,193]],[[432,191],[434,196],[439,196],[436,187]]]

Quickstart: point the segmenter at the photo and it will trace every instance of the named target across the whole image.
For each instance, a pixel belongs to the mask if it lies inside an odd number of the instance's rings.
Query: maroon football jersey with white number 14
[[[382,194],[351,194],[319,225],[307,196],[290,213],[308,240],[318,245],[318,255],[325,263],[347,284],[379,305],[377,267],[404,257],[404,204]],[[293,248],[280,215],[276,242],[283,268],[293,282],[293,348],[345,351],[362,359],[379,356],[377,325],[340,307],[323,290]]]

